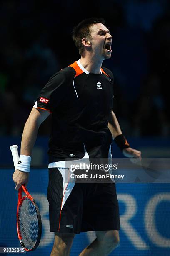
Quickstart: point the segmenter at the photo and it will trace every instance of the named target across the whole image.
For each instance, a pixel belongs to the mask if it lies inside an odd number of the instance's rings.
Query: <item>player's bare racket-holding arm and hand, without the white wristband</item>
[[[40,124],[50,115],[49,111],[32,108],[32,111],[25,123],[22,141],[21,141],[21,155],[31,156],[32,149],[35,144],[38,129]],[[15,189],[18,190],[21,185],[27,184],[29,179],[29,172],[15,170],[13,173],[13,181],[15,182]]]

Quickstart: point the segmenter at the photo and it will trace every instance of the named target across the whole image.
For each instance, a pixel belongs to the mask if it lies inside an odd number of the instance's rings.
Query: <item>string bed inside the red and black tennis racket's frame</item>
[[[27,249],[32,249],[37,241],[39,227],[35,206],[28,197],[25,197],[19,208],[18,219],[23,243]]]

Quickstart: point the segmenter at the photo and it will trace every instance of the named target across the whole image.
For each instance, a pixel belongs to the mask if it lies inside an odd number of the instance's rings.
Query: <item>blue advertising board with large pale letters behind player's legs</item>
[[[14,189],[12,180],[13,169],[0,169],[0,246],[18,247],[18,236],[16,231],[16,210],[18,202],[18,192]],[[42,216],[42,243],[31,255],[50,255],[52,249],[53,235],[49,233],[48,223],[48,203],[46,199],[48,172],[47,169],[32,169],[30,172],[30,181],[28,184],[29,192],[35,197]],[[168,200],[161,200],[162,195],[169,196]],[[117,196],[120,205],[120,246],[110,255],[170,255],[170,184],[117,184]],[[164,239],[169,239],[167,245],[163,248],[158,243],[153,243],[148,231],[145,228],[145,220],[150,217],[145,210],[148,202],[153,198],[160,199],[160,203],[155,208],[153,220],[155,224],[150,223],[148,228],[155,225],[157,232]],[[152,204],[151,204],[152,205]],[[127,223],[130,228],[125,231],[123,217],[130,210],[132,216]],[[47,229],[47,230],[46,230]],[[133,234],[135,230],[135,234]],[[139,238],[140,240],[139,240]],[[91,240],[90,240],[91,237]],[[131,238],[130,238],[131,237]],[[152,234],[155,237],[155,233]],[[71,254],[77,256],[80,251],[94,239],[93,233],[81,233],[76,235]],[[136,241],[136,242],[135,242]],[[143,248],[143,242],[148,249]],[[136,244],[136,245],[135,245]],[[142,247],[142,248],[140,248]]]

